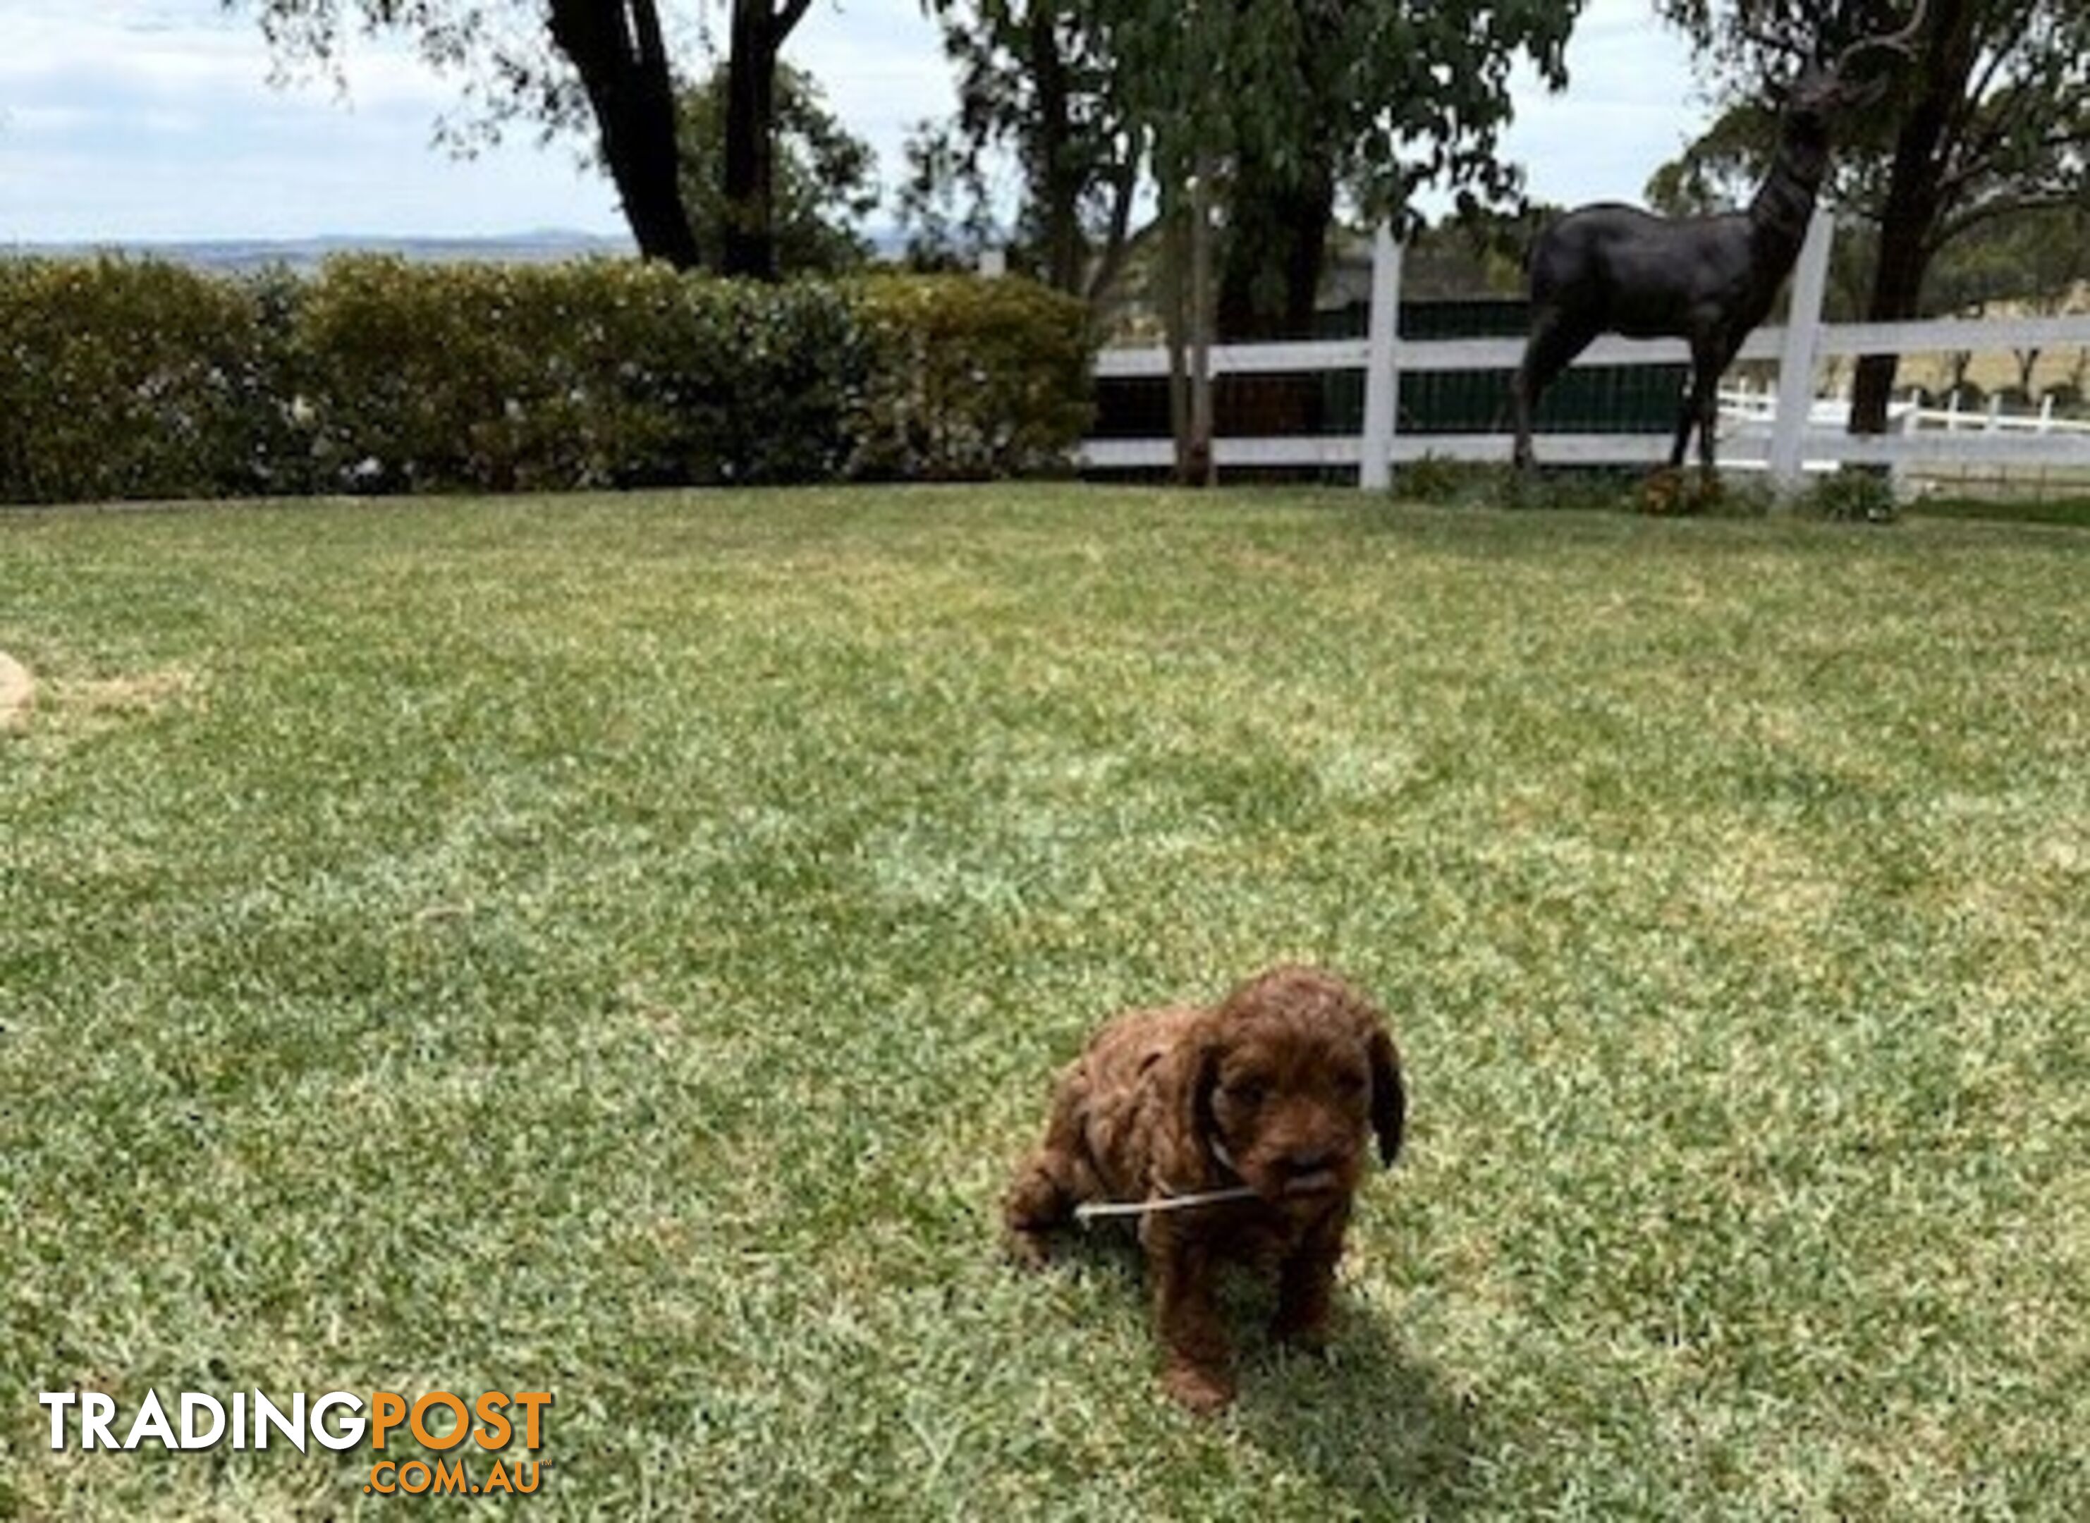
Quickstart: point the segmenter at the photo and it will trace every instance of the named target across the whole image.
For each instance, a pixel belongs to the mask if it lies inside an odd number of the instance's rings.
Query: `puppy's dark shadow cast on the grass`
[[[1129,1231],[1068,1233],[1053,1249],[1055,1266],[1078,1266],[1150,1322]],[[1225,1421],[1248,1444],[1361,1517],[1453,1517],[1478,1500],[1476,1402],[1407,1348],[1384,1312],[1338,1293],[1329,1348],[1302,1354],[1264,1331],[1275,1312],[1269,1276],[1229,1274],[1221,1299],[1239,1377]]]

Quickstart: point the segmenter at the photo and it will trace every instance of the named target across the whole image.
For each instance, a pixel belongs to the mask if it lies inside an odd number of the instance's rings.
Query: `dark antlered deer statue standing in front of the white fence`
[[[1538,234],[1530,257],[1532,336],[1511,389],[1517,466],[1532,466],[1532,412],[1540,393],[1597,334],[1618,332],[1691,343],[1691,393],[1676,420],[1670,470],[1685,464],[1697,428],[1699,466],[1712,474],[1720,374],[1770,311],[1799,257],[1829,171],[1831,121],[1885,90],[1881,77],[1856,79],[1852,63],[1879,50],[1910,56],[1921,25],[1919,0],[1900,31],[1854,42],[1833,63],[1810,63],[1799,73],[1779,117],[1770,173],[1747,211],[1657,217],[1605,201],[1576,207]]]

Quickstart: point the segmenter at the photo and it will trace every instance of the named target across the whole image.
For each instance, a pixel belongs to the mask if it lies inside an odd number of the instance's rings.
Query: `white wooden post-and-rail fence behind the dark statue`
[[[1931,428],[1929,414],[1910,416],[1898,432],[1848,435],[1829,412],[1816,409],[1814,368],[1850,355],[1983,353],[1998,349],[2054,349],[2090,345],[2090,315],[1981,318],[1942,322],[1820,320],[1829,274],[1833,219],[1816,211],[1793,272],[1791,318],[1785,326],[1758,328],[1741,359],[1779,364],[1776,403],[1754,426],[1728,426],[1720,441],[1722,466],[1770,470],[1781,489],[1797,485],[1810,466],[1839,462],[1904,466],[2077,466],[2090,468],[2090,430],[2046,428]],[[1216,439],[1212,455],[1225,466],[1354,468],[1356,485],[1381,489],[1392,468],[1423,458],[1509,460],[1509,435],[1402,435],[1402,370],[1515,370],[1522,338],[1400,338],[1400,247],[1381,228],[1371,257],[1371,322],[1363,338],[1321,338],[1275,345],[1214,345],[1212,374],[1275,374],[1319,370],[1365,372],[1365,424],[1350,437]],[[1680,338],[1599,338],[1578,366],[1691,364]],[[1166,349],[1106,349],[1097,378],[1166,376]],[[1507,416],[1507,395],[1505,395]],[[1731,420],[1733,424],[1733,420]],[[1538,435],[1540,462],[1551,464],[1659,464],[1668,460],[1670,430],[1659,435]],[[1175,462],[1168,439],[1089,439],[1083,466],[1095,470],[1152,470]]]

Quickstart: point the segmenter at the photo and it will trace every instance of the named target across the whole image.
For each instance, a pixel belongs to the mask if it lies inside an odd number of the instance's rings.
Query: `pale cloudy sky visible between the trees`
[[[953,107],[918,0],[821,0],[786,56],[888,184],[909,125]],[[1568,63],[1565,96],[1519,73],[1509,157],[1545,201],[1639,198],[1705,115],[1685,48],[1651,0],[1590,0]],[[217,0],[0,0],[0,244],[625,232],[571,142],[431,146],[456,86],[403,46],[357,40],[345,96],[268,77],[253,19]]]

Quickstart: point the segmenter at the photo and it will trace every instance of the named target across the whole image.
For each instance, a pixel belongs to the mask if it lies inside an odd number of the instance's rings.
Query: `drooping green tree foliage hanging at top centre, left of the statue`
[[[1016,153],[1020,226],[1055,284],[1122,244],[1133,175],[1166,205],[1204,165],[1223,305],[1254,326],[1310,307],[1340,196],[1404,219],[1427,184],[1511,194],[1511,65],[1559,86],[1582,0],[926,4],[959,65],[963,138]]]

